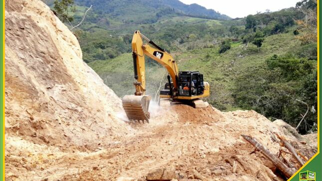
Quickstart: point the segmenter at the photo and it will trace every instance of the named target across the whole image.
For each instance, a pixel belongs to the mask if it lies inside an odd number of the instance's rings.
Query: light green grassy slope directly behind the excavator
[[[175,52],[179,70],[199,70],[205,81],[211,85],[211,96],[206,100],[221,110],[234,110],[232,97],[236,77],[247,74],[252,69],[265,64],[266,59],[274,54],[284,55],[297,48],[301,42],[292,31],[268,36],[259,49],[253,44],[236,42],[229,51],[218,52],[219,45],[197,48],[191,51]],[[131,53],[124,53],[114,59],[94,61],[88,64],[115,90],[120,97],[135,91],[133,86],[133,65]],[[164,68],[148,60],[147,91],[154,95],[158,89],[156,84],[164,75]]]

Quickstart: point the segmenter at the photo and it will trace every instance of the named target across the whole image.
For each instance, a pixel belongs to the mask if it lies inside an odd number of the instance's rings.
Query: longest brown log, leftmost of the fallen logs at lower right
[[[278,157],[272,154],[267,148],[265,148],[261,143],[259,143],[255,138],[252,138],[247,135],[242,135],[242,137],[251,143],[257,150],[261,151],[261,153],[267,157],[282,173],[283,175],[289,179],[296,172],[295,169],[289,168],[285,165]]]

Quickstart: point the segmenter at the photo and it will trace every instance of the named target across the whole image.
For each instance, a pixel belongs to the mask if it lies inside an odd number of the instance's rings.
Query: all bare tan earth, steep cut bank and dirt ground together
[[[283,180],[242,134],[272,153],[301,136],[255,111],[151,107],[150,124],[128,124],[120,99],[82,61],[76,37],[40,0],[5,1],[5,178],[7,181],[135,181],[151,171],[177,179]]]

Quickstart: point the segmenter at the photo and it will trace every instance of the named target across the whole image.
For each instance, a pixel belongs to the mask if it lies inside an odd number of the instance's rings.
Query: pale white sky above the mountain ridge
[[[180,0],[185,4],[197,3],[207,9],[214,9],[232,18],[256,14],[257,11],[277,11],[294,7],[300,0]]]

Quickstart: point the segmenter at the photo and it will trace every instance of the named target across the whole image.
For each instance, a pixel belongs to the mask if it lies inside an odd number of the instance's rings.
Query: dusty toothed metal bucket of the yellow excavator
[[[122,99],[123,108],[130,121],[147,121],[149,123],[149,105],[151,96],[125,95]]]

